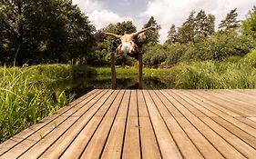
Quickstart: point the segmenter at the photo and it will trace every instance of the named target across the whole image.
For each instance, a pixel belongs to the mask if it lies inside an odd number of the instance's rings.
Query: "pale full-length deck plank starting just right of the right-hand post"
[[[154,104],[148,91],[143,90],[146,104],[148,106],[148,113],[159,143],[159,149],[163,158],[182,158],[177,145],[175,144],[169,130],[164,123],[159,111]]]

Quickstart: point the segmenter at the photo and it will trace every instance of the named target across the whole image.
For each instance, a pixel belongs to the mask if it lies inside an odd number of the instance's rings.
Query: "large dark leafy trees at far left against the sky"
[[[2,63],[76,62],[90,52],[95,28],[71,0],[5,0],[0,8]]]

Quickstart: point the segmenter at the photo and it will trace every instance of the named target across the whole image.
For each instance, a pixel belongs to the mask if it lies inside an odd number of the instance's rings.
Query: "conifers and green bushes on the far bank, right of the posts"
[[[164,45],[148,46],[144,55],[145,65],[222,61],[231,55],[248,54],[256,47],[256,6],[249,11],[244,21],[239,21],[237,16],[236,8],[232,9],[215,31],[214,15],[206,15],[202,10],[197,15],[191,12],[180,27],[171,25]]]

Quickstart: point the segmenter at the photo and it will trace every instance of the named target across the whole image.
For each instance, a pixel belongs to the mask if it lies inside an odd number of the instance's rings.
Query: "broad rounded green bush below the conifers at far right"
[[[222,61],[230,55],[246,55],[256,42],[250,36],[235,31],[219,32],[199,43],[190,44],[182,61]]]

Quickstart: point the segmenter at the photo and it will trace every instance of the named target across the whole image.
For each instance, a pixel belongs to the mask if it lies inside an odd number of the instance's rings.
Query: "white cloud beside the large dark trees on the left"
[[[123,21],[133,21],[130,16],[120,16],[114,12],[104,8],[104,4],[99,1],[92,0],[73,0],[73,4],[77,4],[83,13],[86,13],[89,20],[97,29],[103,28],[110,23],[118,23]]]

